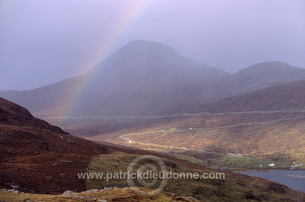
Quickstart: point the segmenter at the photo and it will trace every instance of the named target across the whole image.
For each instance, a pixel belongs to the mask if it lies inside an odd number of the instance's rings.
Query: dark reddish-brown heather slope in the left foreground
[[[84,190],[77,172],[91,157],[109,151],[35,118],[25,108],[0,98],[0,186],[58,193]]]

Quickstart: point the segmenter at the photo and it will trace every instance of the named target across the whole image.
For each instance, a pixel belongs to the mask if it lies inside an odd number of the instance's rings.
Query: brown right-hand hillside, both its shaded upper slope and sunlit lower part
[[[100,129],[92,128],[95,135],[83,134],[92,140],[140,148],[202,150],[305,163],[303,89],[304,80],[271,86],[194,107],[189,110],[192,113],[123,119],[125,125],[114,123],[112,129],[97,133]],[[94,126],[98,120],[103,123],[99,118],[90,122]],[[64,124],[70,130],[77,127]]]

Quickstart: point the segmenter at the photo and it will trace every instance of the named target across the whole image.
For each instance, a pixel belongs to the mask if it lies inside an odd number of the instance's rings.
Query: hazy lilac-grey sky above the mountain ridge
[[[305,68],[305,1],[1,0],[0,90],[77,76],[137,39],[229,72]]]

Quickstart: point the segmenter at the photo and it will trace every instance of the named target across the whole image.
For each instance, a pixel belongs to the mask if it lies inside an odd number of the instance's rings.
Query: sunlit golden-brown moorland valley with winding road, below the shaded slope
[[[142,119],[117,117],[116,120],[115,118],[108,119],[109,125],[117,126],[109,129],[112,131],[100,132],[99,128],[96,128],[95,134],[86,131],[87,133],[82,133],[82,137],[97,142],[111,142],[158,151],[179,153],[198,151],[220,155],[229,153],[258,160],[269,159],[269,161],[287,162],[285,168],[291,166],[293,161],[304,161],[305,138],[298,135],[303,134],[305,118],[303,111],[176,114]],[[102,118],[88,119],[92,125],[95,125],[94,123],[106,125]],[[85,118],[77,120],[81,120],[79,123],[81,126],[86,124]],[[75,122],[77,120],[74,119]],[[52,121],[52,118],[48,121]],[[78,131],[76,126],[78,125],[69,122],[61,127],[70,133],[77,131],[81,134],[81,130]],[[210,158],[202,158],[202,160],[210,160]]]

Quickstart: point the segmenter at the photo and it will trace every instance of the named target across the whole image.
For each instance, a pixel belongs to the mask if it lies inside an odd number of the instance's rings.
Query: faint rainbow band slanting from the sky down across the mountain
[[[96,64],[100,63],[102,59],[113,53],[114,48],[117,47],[117,43],[122,38],[122,36],[137,22],[141,15],[146,11],[146,9],[153,3],[153,0],[141,0],[133,1],[128,3],[127,7],[124,8],[124,12],[121,14],[120,18],[116,20],[115,26],[112,30],[109,30],[107,36],[103,36],[103,45],[96,43],[97,46],[93,49],[90,54],[90,58],[81,64],[82,68],[93,68]],[[93,69],[86,73],[82,79],[78,80],[77,85],[72,87],[71,93],[64,100],[64,103],[69,103],[58,107],[57,111],[57,123],[60,125],[63,123],[71,112],[75,109],[76,101],[83,95],[86,87],[89,85],[90,80],[92,80],[97,69]]]

